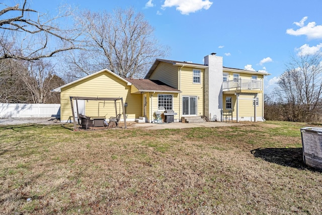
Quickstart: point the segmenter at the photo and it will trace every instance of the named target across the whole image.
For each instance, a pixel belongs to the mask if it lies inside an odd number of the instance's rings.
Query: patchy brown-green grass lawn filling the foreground
[[[2,126],[0,213],[321,214],[322,173],[302,163],[305,126]]]

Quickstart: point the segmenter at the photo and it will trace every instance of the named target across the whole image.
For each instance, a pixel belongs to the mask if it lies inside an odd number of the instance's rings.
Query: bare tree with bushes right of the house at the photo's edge
[[[322,104],[322,54],[292,56],[278,82],[281,114],[289,121],[314,121]]]

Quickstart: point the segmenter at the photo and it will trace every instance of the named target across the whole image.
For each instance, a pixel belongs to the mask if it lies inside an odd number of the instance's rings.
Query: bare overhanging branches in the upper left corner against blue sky
[[[79,47],[76,40],[79,31],[61,28],[71,17],[70,8],[61,8],[56,17],[50,18],[46,13],[28,8],[27,0],[22,6],[0,3],[1,6],[0,60],[38,60]]]

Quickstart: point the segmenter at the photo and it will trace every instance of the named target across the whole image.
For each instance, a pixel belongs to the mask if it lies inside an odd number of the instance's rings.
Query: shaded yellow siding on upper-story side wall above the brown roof
[[[149,79],[159,80],[178,89],[178,66],[173,66],[171,63],[160,62]]]

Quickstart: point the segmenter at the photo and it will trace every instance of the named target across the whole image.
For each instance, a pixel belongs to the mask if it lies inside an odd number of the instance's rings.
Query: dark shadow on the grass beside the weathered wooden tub
[[[265,161],[297,169],[307,169],[302,148],[258,148],[251,153]]]

